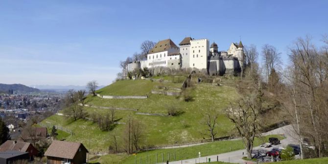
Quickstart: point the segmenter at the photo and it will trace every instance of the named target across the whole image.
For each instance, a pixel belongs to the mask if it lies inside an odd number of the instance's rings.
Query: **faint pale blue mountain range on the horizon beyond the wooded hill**
[[[87,86],[76,86],[76,85],[68,85],[68,86],[60,86],[60,85],[34,85],[31,86],[34,88],[38,88],[44,91],[68,91],[68,90],[87,90]],[[105,86],[99,86],[98,89],[103,88]]]

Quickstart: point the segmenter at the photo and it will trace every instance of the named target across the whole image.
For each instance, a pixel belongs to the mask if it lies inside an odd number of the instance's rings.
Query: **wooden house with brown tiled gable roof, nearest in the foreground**
[[[52,141],[45,156],[47,164],[86,164],[89,151],[82,143]]]

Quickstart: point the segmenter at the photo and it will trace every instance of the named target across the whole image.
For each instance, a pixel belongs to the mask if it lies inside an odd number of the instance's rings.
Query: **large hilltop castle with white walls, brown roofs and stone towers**
[[[245,66],[244,47],[232,43],[227,51],[218,51],[208,39],[184,38],[179,47],[171,39],[159,41],[147,54],[147,60],[129,63],[125,70],[167,68],[202,71],[210,75],[238,75]]]

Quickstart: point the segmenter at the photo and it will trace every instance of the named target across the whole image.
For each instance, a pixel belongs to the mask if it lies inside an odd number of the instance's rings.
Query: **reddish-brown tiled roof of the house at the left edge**
[[[16,142],[16,143],[15,143]],[[21,142],[21,141],[5,141],[4,143],[2,143],[0,145],[0,152],[5,152],[8,150],[16,150],[16,151],[20,151],[20,152],[26,152],[28,146],[31,143],[29,142]]]

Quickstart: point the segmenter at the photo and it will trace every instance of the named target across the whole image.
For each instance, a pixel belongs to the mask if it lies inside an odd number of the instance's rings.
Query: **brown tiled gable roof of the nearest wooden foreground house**
[[[45,152],[45,156],[73,159],[76,152],[79,151],[80,147],[86,149],[84,147],[84,145],[79,142],[68,142],[68,141],[56,141],[55,140],[55,141],[52,141],[52,143],[48,147],[47,151]],[[87,150],[87,152],[88,152],[88,150]]]

